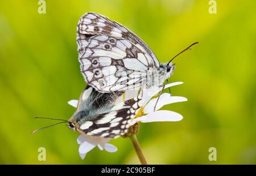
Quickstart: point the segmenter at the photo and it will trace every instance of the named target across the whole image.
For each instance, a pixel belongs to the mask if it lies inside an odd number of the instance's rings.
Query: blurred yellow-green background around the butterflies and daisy
[[[67,104],[85,87],[79,70],[76,25],[93,11],[141,37],[160,62],[176,58],[170,81],[188,102],[171,104],[180,122],[142,124],[139,142],[149,164],[256,164],[256,2],[217,1],[38,1],[0,2],[0,164],[139,164],[128,139],[110,141],[118,152],[78,153],[79,134],[65,125],[30,135],[53,121],[69,119]],[[46,161],[38,161],[38,148]],[[208,149],[217,149],[217,161]]]

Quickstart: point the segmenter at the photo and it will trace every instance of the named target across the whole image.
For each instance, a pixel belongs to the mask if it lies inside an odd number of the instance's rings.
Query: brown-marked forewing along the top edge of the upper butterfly
[[[150,55],[153,67],[159,67],[159,61],[155,57],[155,54],[147,44],[141,40],[141,38],[136,36],[122,24],[114,22],[104,15],[87,12],[85,15],[82,15],[79,20],[79,24],[77,25],[77,45],[79,47],[80,54],[84,53],[88,39],[94,35],[109,35],[114,38],[122,38],[130,41],[144,53],[148,53],[148,55]]]

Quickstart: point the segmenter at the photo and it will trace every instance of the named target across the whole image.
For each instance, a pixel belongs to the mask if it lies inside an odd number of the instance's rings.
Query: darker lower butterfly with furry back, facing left
[[[72,100],[69,102],[77,108],[71,119],[68,121],[55,119],[63,122],[54,125],[67,123],[72,130],[90,136],[104,138],[123,136],[128,132],[130,122],[141,108],[140,101],[142,101],[142,93],[126,101],[123,100],[123,93],[100,93],[88,85],[82,91],[79,101]],[[32,134],[38,130],[33,131]]]

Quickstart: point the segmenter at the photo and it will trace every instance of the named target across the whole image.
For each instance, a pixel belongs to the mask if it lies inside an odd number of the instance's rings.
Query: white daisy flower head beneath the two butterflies
[[[182,82],[170,83],[165,85],[164,89],[175,86],[175,85],[179,85],[179,84],[183,84],[183,83]],[[170,110],[159,110],[159,109],[167,104],[187,101],[187,98],[179,97],[179,96],[171,96],[170,93],[163,93],[162,95],[160,95],[158,103],[155,107],[157,98],[153,98],[152,100],[151,98],[154,97],[161,90],[162,88],[143,90],[142,107],[137,113],[137,115],[134,117],[134,119],[131,121],[131,123],[129,124],[130,126],[135,125],[135,123],[137,122],[147,123],[147,122],[181,121],[183,117],[179,113],[175,113],[174,111],[170,111]],[[131,98],[137,97],[137,93],[138,91],[126,91],[124,100],[129,100]],[[76,108],[78,104],[78,100],[71,100],[68,102],[68,104]],[[154,108],[155,108],[155,111],[154,111]],[[108,151],[108,152],[116,152],[117,148],[114,145],[108,143],[111,139],[112,138],[80,135],[77,138],[77,143],[80,145],[79,146],[80,157],[84,159],[86,156],[86,153],[91,151],[96,146],[101,151],[105,149],[105,151]]]

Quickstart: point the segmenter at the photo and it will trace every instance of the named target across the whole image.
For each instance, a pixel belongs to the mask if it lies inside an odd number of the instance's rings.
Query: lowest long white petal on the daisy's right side
[[[179,113],[175,113],[174,111],[170,110],[158,110],[145,116],[146,118],[144,118],[141,122],[176,122],[181,121],[181,119],[183,118],[182,115],[180,115]]]

